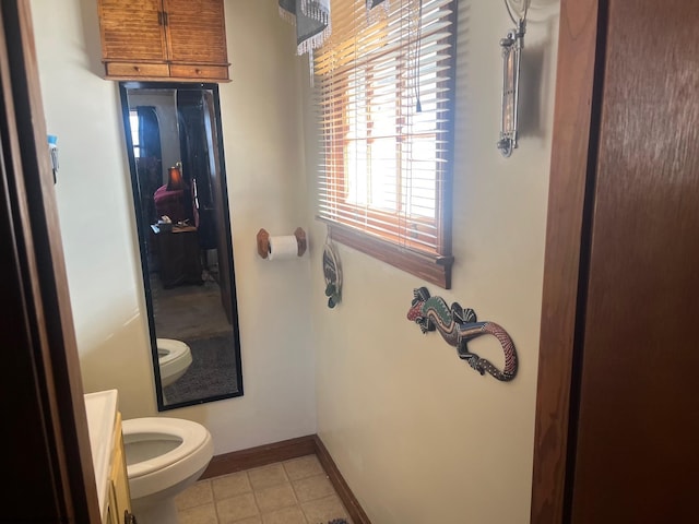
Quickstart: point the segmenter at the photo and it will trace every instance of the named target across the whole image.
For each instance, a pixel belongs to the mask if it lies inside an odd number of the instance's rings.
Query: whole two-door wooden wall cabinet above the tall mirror
[[[98,0],[105,78],[228,82],[223,0]]]

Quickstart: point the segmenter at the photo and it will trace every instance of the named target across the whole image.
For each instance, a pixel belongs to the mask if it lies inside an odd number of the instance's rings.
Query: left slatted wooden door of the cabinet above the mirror
[[[161,0],[100,0],[99,31],[104,60],[167,59]]]

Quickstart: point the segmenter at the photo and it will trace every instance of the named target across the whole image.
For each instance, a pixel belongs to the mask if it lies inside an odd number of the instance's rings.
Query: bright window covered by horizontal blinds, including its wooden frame
[[[332,238],[450,287],[453,0],[332,3],[315,56],[319,218]]]

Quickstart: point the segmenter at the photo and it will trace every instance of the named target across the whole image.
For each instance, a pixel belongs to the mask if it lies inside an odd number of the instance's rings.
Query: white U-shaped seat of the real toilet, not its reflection
[[[211,440],[211,433],[201,424],[180,418],[143,417],[123,420],[121,425],[125,444],[143,440],[180,440],[181,443],[151,460],[129,464],[129,478],[138,478],[167,467],[194,453]],[[127,453],[128,454],[128,453]]]

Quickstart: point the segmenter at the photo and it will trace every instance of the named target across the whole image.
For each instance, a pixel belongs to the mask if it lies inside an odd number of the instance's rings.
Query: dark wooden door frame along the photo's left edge
[[[29,2],[0,2],[3,522],[102,521]]]

